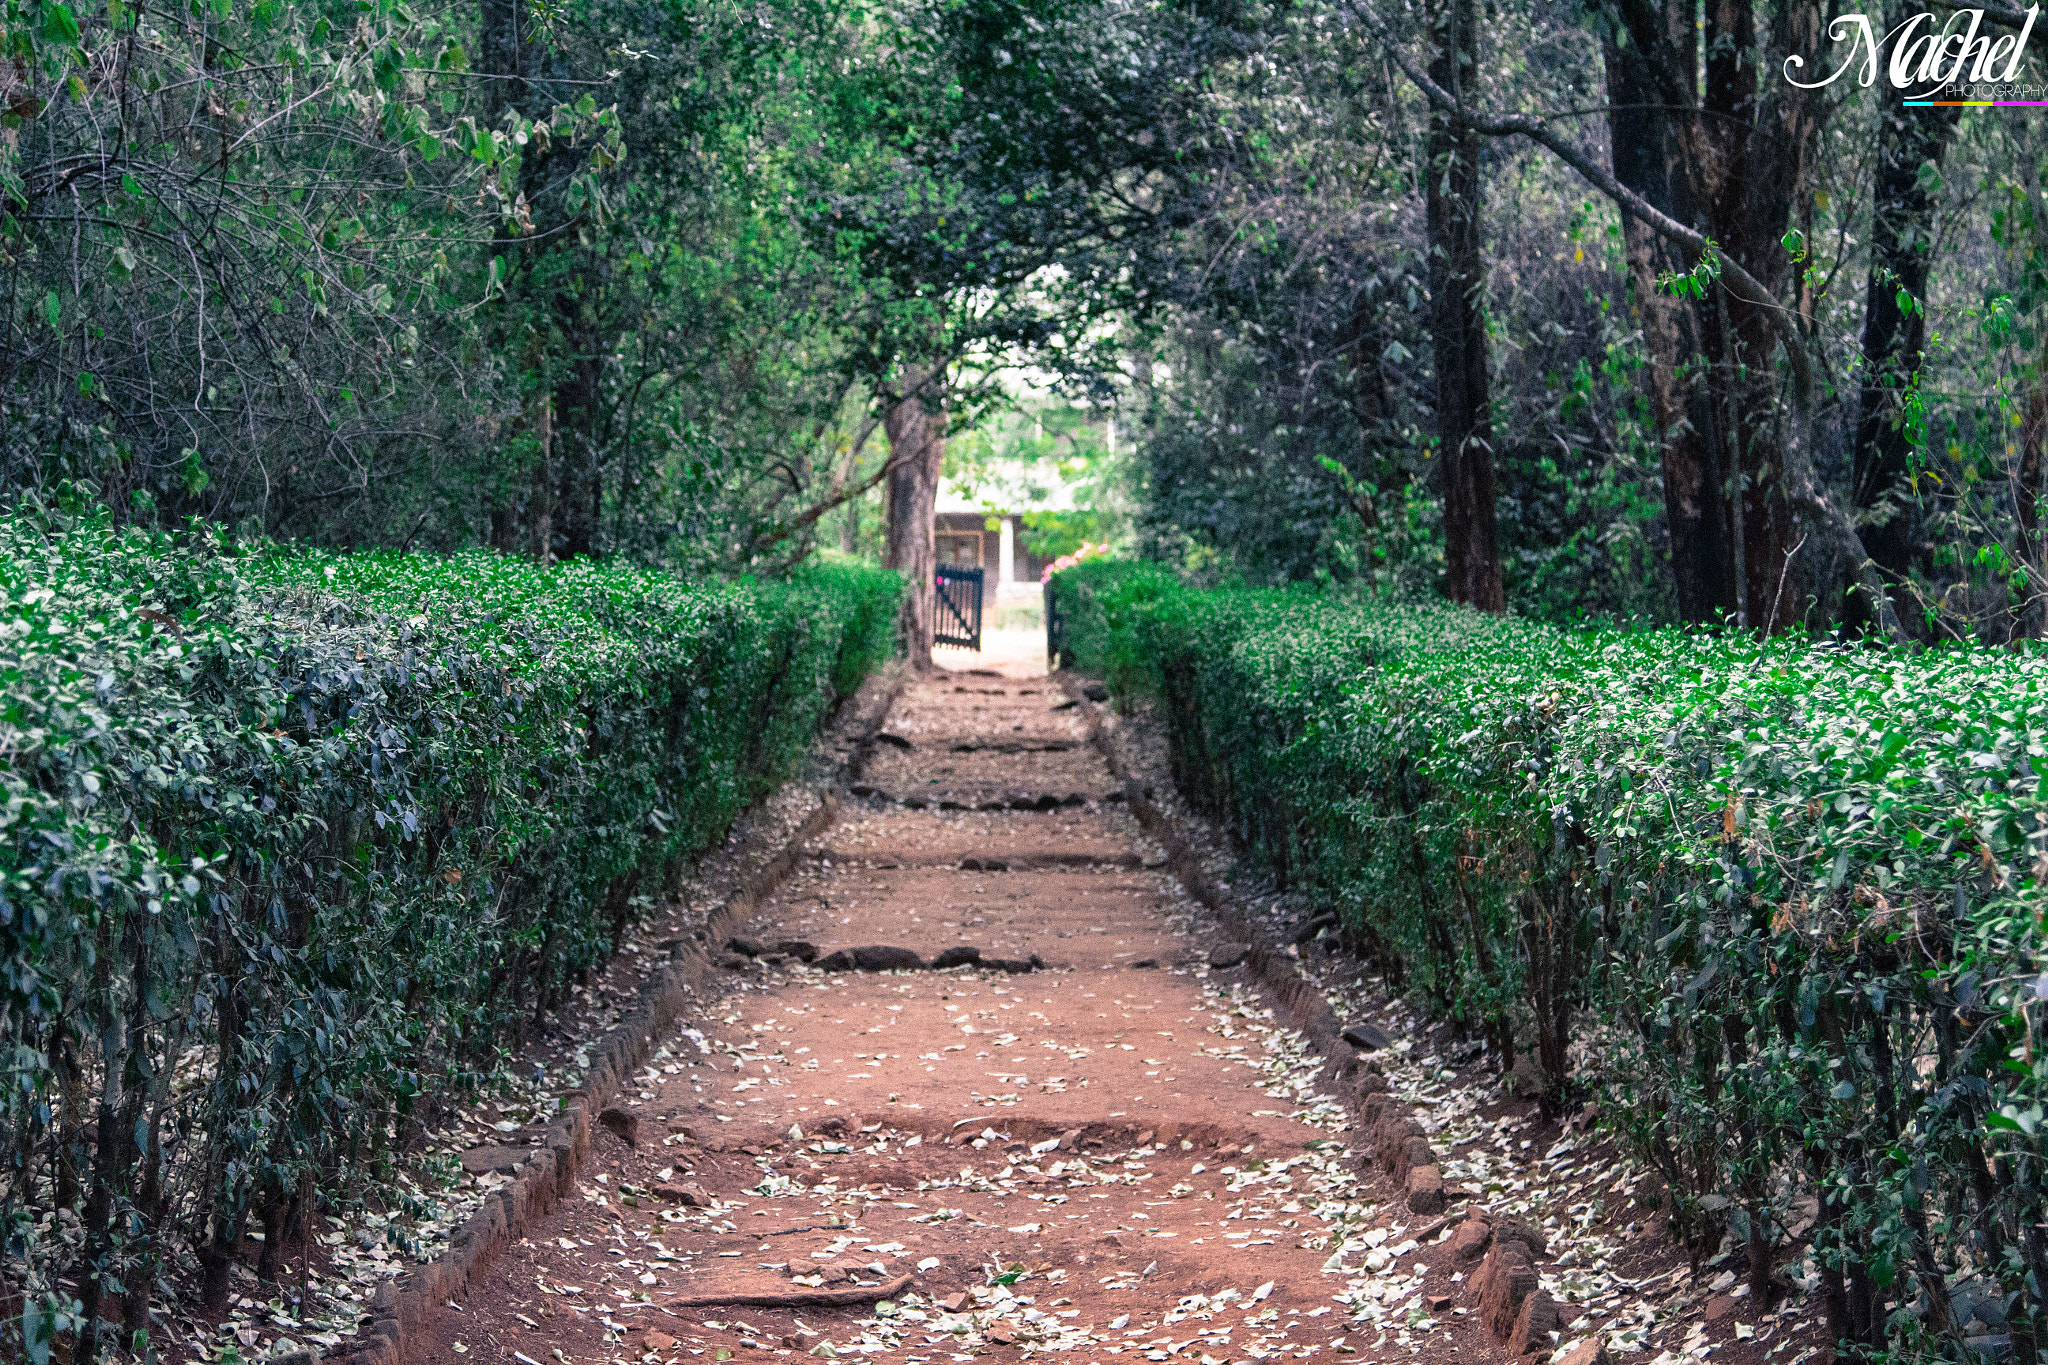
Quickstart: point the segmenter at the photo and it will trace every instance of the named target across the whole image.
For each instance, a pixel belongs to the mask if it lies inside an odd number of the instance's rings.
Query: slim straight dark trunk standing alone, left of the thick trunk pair
[[[1442,0],[1430,76],[1462,102],[1479,65],[1475,0]],[[1430,115],[1430,329],[1444,479],[1444,567],[1452,602],[1505,610],[1493,510],[1493,403],[1487,389],[1479,133]]]

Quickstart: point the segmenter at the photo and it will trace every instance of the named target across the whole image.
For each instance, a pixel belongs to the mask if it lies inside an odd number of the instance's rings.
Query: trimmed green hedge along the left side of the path
[[[0,520],[0,1218],[31,1351],[168,1254],[225,1293],[246,1230],[274,1257],[317,1187],[403,1148],[793,772],[899,591]]]

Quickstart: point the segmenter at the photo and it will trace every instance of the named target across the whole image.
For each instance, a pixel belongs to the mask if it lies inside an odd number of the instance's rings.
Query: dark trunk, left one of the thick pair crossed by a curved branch
[[[1696,49],[1692,10],[1665,6],[1657,16],[1671,51]],[[1659,90],[1653,57],[1642,43],[1606,43],[1608,143],[1614,178],[1681,223],[1694,219],[1683,172],[1677,168],[1681,133],[1673,127],[1667,96]],[[1659,289],[1657,280],[1681,274],[1683,260],[1647,223],[1624,215],[1622,237],[1634,287],[1642,342],[1649,352],[1647,397],[1657,424],[1663,473],[1665,528],[1671,538],[1671,579],[1679,620],[1708,622],[1735,614],[1729,499],[1714,450],[1718,422],[1708,385],[1690,362],[1702,352],[1698,307]]]

